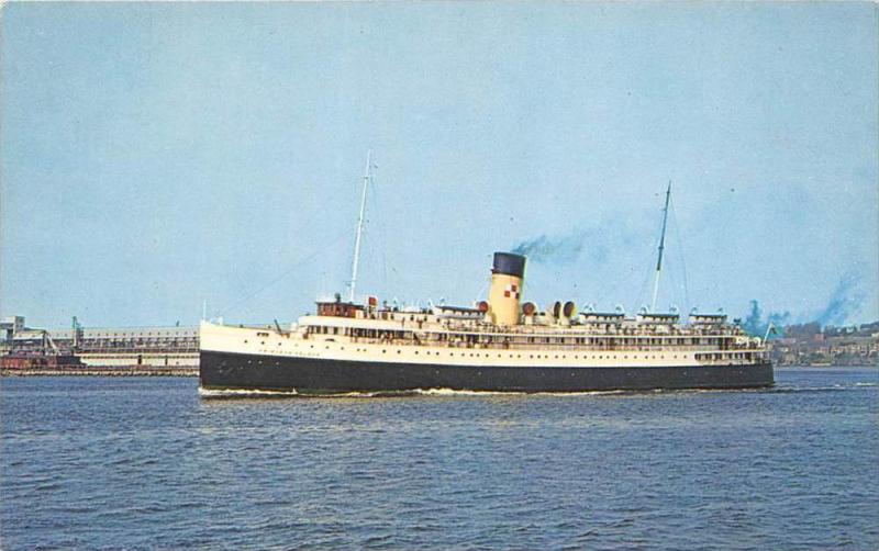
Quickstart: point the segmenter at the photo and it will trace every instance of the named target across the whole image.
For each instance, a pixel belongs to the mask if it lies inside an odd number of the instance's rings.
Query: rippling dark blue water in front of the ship
[[[879,370],[777,380],[205,400],[3,379],[0,547],[879,548]]]

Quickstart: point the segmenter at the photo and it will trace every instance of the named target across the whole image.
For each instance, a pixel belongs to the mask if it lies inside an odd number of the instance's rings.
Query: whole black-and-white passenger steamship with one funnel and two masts
[[[774,384],[764,339],[724,314],[642,310],[634,316],[523,300],[527,258],[493,255],[486,300],[467,306],[400,307],[355,285],[369,161],[363,184],[349,294],[281,327],[202,321],[200,387],[299,395],[431,390],[579,393],[759,389]],[[661,270],[666,194],[654,303]],[[655,308],[654,308],[655,310]]]

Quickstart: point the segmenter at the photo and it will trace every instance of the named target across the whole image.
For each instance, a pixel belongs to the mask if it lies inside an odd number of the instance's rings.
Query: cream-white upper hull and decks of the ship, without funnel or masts
[[[763,361],[759,338],[725,316],[578,314],[522,316],[505,327],[478,308],[434,307],[416,313],[352,303],[320,303],[319,315],[289,330],[202,323],[201,349],[254,357],[358,362],[519,367],[654,367],[749,364]],[[564,325],[563,325],[564,324]],[[255,360],[259,361],[259,360]]]

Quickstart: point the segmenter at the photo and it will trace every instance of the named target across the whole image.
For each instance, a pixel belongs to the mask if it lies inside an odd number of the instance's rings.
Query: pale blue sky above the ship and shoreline
[[[0,314],[346,292],[879,318],[879,18],[832,3],[5,3]]]

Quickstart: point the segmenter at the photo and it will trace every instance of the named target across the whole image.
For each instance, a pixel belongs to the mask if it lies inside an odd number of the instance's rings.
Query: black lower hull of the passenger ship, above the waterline
[[[772,366],[513,368],[430,366],[201,352],[205,390],[335,394],[452,389],[493,392],[754,389],[774,384]]]

